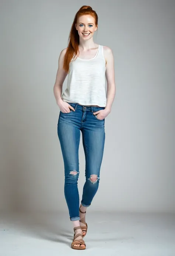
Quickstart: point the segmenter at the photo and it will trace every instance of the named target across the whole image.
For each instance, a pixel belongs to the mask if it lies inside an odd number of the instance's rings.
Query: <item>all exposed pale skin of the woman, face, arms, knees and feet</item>
[[[79,34],[79,58],[91,59],[95,56],[98,45],[93,42],[93,34],[97,30],[97,26],[95,25],[95,19],[91,15],[83,15],[78,18],[77,23],[75,25],[76,30]],[[83,35],[83,33],[88,33],[89,35]],[[62,50],[58,60],[58,70],[56,73],[56,80],[54,85],[54,96],[56,99],[56,103],[59,106],[59,109],[63,113],[69,113],[70,109],[75,111],[75,109],[69,105],[68,102],[65,102],[61,99],[62,95],[62,86],[65,81],[66,76],[68,75],[63,69],[64,57],[65,57],[66,49]],[[114,101],[116,86],[115,86],[115,75],[114,75],[114,57],[112,50],[104,46],[103,47],[104,58],[106,61],[106,81],[107,81],[107,103],[104,110],[99,110],[94,113],[99,120],[106,118],[111,112],[111,106]],[[76,173],[75,173],[76,174]],[[91,181],[95,182],[97,180],[97,175],[91,176]],[[86,207],[81,206],[81,211],[85,212]],[[80,219],[83,218],[85,214],[80,213]],[[73,226],[85,226],[85,224],[79,221],[73,221]],[[82,232],[81,229],[75,231],[75,235],[81,233],[85,234],[86,232]],[[76,238],[76,240],[82,239],[81,236]],[[84,247],[85,245],[80,245],[79,243],[75,244],[76,247]]]

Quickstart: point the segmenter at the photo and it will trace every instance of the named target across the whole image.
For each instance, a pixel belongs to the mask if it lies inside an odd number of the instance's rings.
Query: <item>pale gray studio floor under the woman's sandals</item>
[[[1,213],[0,256],[175,256],[175,214],[87,213],[86,250],[67,213]]]

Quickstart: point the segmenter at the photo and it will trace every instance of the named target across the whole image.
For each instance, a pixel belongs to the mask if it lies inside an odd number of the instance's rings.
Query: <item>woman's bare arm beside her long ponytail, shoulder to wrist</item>
[[[66,49],[62,50],[60,55],[59,55],[58,70],[57,70],[57,73],[56,73],[56,80],[55,80],[55,85],[54,85],[54,96],[55,96],[57,104],[59,104],[59,102],[62,100],[61,99],[62,86],[63,86],[63,83],[64,83],[65,78],[67,76],[67,73],[63,69],[65,53],[66,53]]]

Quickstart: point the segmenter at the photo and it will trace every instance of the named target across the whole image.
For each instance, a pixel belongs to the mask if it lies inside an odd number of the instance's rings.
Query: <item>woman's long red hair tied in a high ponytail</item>
[[[64,58],[64,64],[63,68],[68,73],[69,72],[69,63],[71,62],[74,55],[76,56],[78,54],[78,47],[79,47],[79,34],[76,30],[75,24],[77,23],[77,20],[82,15],[91,15],[93,18],[95,18],[95,24],[98,25],[98,16],[96,11],[92,10],[92,7],[83,5],[78,12],[75,15],[75,18],[73,20],[73,24],[71,27],[71,31],[69,34],[69,40],[68,40],[68,48],[66,50],[65,58]]]

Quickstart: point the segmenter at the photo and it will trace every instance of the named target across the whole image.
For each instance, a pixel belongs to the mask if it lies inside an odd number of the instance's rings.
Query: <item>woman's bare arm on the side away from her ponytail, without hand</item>
[[[106,59],[106,80],[107,80],[107,103],[106,110],[111,111],[113,104],[116,85],[115,85],[115,73],[114,73],[114,57],[112,50],[109,47],[104,47],[104,58]]]

